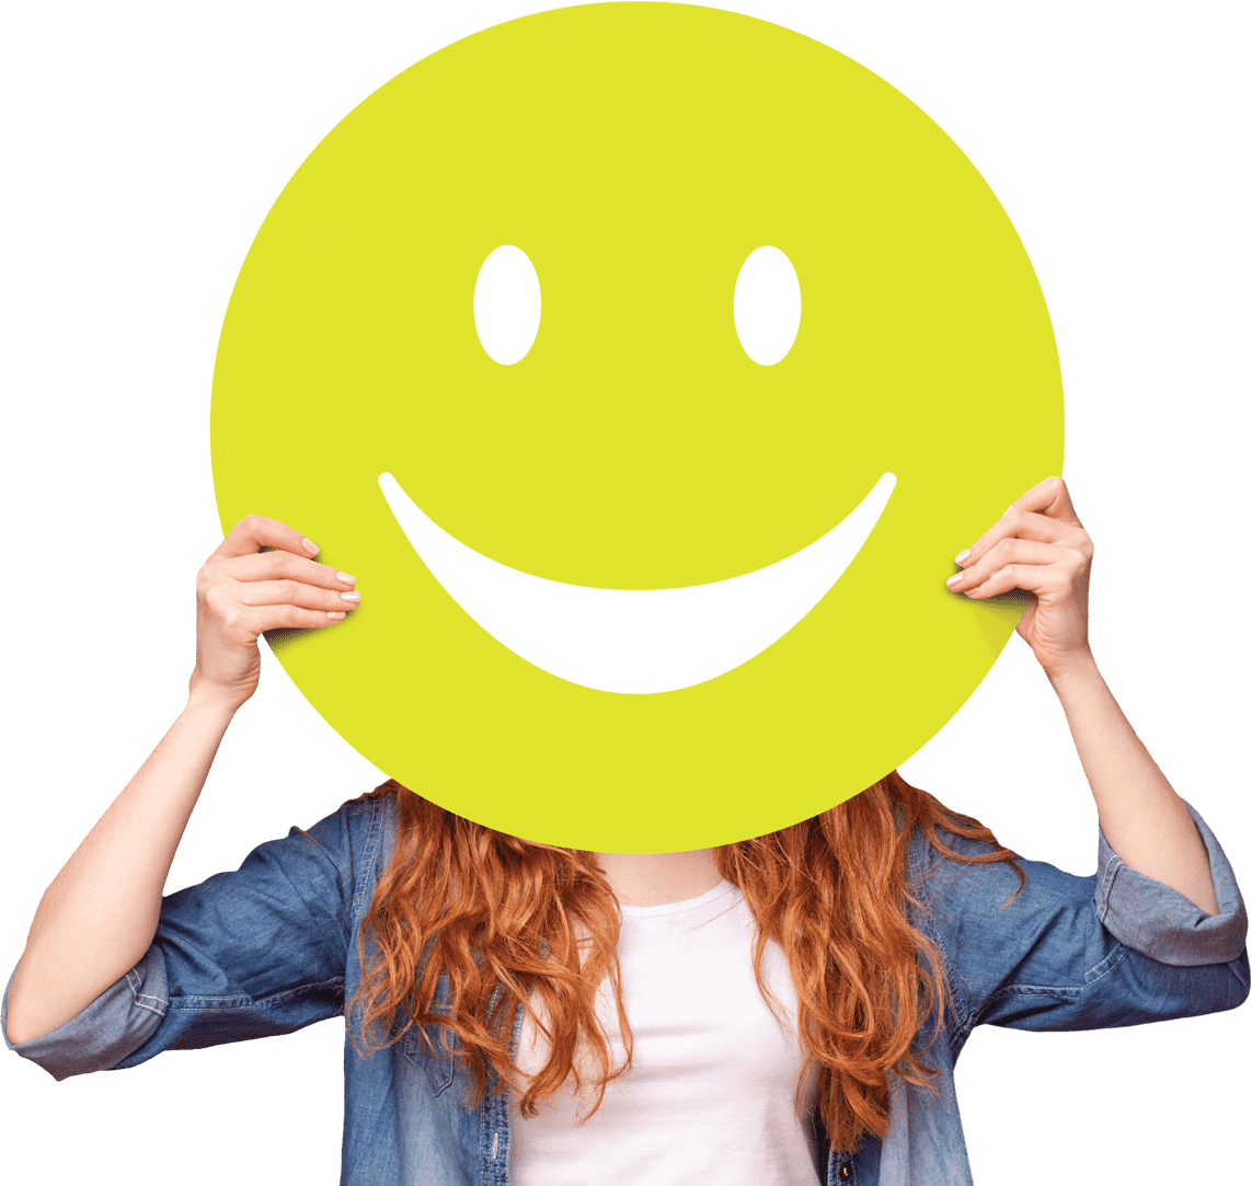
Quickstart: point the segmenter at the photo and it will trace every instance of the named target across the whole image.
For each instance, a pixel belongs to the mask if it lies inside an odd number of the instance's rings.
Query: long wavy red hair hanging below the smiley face
[[[634,1050],[617,960],[617,900],[593,856],[472,823],[393,779],[361,798],[383,794],[396,797],[398,832],[358,938],[363,978],[346,1016],[364,1001],[367,1052],[349,1025],[354,1048],[369,1057],[419,1026],[423,1048],[434,1056],[428,1033],[438,1031],[443,1051],[456,1053],[473,1073],[475,1105],[495,1067],[496,1091],[513,1086],[522,1115],[535,1116],[538,1102],[571,1075],[575,1090],[582,1090],[575,1061],[581,1042],[600,1066],[585,1122],[600,1107],[605,1087],[630,1071]],[[944,846],[936,826],[988,841],[994,851],[959,856]],[[947,992],[938,951],[905,912],[909,902],[925,910],[906,884],[914,827],[958,861],[1008,861],[1020,879],[1009,902],[1025,884],[1013,861],[1017,853],[1000,846],[990,828],[910,786],[896,771],[820,816],[716,851],[722,877],[740,888],[756,920],[756,982],[776,1017],[777,1000],[761,978],[766,941],[772,938],[786,955],[799,1032],[808,1057],[821,1063],[821,1120],[838,1150],[855,1150],[866,1133],[886,1132],[888,1070],[931,1088],[938,1073],[914,1048],[931,1012],[938,1035]],[[377,947],[368,967],[367,932]],[[441,973],[448,977],[449,1012],[432,1011]],[[605,977],[626,1050],[617,1070],[610,1068],[608,1037],[596,1016]],[[547,1026],[536,1017],[531,993],[543,1001]],[[546,1065],[528,1085],[510,1055],[518,1003],[551,1042]],[[401,1008],[408,1021],[397,1031]],[[371,1038],[378,1031],[389,1038]],[[452,1033],[458,1051],[449,1045]]]

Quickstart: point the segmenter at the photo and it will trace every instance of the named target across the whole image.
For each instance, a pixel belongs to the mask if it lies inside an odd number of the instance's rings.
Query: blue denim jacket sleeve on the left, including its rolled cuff
[[[377,879],[378,814],[378,799],[351,799],[308,832],[259,844],[234,872],[167,895],[139,963],[43,1037],[9,1041],[6,985],[5,1045],[60,1082],[342,1016],[349,941]]]

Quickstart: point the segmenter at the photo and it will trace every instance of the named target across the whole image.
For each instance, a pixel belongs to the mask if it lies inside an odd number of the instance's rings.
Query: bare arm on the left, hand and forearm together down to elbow
[[[314,563],[316,552],[285,523],[250,514],[197,574],[187,707],[39,900],[9,985],[15,1046],[59,1030],[151,946],[213,758],[260,681],[257,639],[278,627],[343,621],[353,604],[341,590],[354,578]]]

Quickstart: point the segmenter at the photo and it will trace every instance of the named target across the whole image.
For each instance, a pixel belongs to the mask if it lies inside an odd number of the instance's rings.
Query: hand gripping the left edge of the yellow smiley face
[[[359,594],[342,597],[354,585],[354,578],[343,580],[312,559],[304,537],[285,523],[259,514],[240,519],[195,578],[195,667],[188,692],[240,708],[260,682],[260,634],[342,622],[359,604]]]

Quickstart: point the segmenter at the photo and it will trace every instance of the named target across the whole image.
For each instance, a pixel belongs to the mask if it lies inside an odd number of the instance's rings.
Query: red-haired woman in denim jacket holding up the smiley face
[[[257,638],[351,612],[354,580],[314,552],[250,515],[200,570],[188,706],[49,887],[5,992],[6,1043],[58,1080],[347,1002],[344,1182],[685,1182],[714,1162],[727,1182],[968,1182],[950,1077],[975,1025],[1247,997],[1233,871],[1096,667],[1093,547],[1059,478],[962,552],[949,588],[1030,592],[1018,633],[1090,783],[1094,878],[1019,866],[893,772],[818,821],[664,857],[530,844],[384,786],[163,900],[255,692]],[[750,945],[777,1030],[739,991]],[[684,976],[705,980],[685,993]],[[631,1067],[623,998],[645,1015]]]

